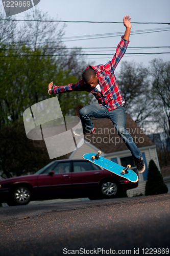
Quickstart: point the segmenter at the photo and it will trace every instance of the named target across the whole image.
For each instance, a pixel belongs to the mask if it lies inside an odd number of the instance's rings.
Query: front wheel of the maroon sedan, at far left
[[[17,186],[11,192],[11,200],[8,205],[26,205],[31,200],[31,190],[27,186]]]

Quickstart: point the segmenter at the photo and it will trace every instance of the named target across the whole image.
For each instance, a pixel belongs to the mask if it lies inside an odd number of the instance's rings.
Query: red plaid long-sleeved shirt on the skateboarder
[[[87,91],[92,93],[98,100],[99,104],[107,106],[107,109],[114,110],[118,108],[124,101],[124,97],[120,92],[116,77],[114,75],[114,70],[117,67],[118,62],[124,56],[126,49],[128,47],[129,41],[125,40],[122,36],[122,40],[119,42],[116,53],[113,59],[110,60],[106,65],[89,66],[95,70],[99,84],[101,87],[101,92],[91,88],[85,83],[83,78],[77,83],[70,83],[67,86],[56,86],[53,89],[54,94],[70,92],[70,91]]]

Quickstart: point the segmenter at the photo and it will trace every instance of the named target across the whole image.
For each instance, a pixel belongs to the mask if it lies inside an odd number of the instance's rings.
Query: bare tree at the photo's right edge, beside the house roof
[[[170,61],[154,59],[151,61],[153,117],[159,131],[165,133],[164,155],[169,157],[170,143]],[[165,161],[166,164],[167,161]]]

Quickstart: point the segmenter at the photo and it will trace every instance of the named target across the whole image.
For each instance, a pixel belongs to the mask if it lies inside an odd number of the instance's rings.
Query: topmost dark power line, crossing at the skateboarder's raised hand
[[[110,23],[110,24],[123,24],[123,22],[93,22],[89,20],[42,20],[42,19],[0,19],[7,20],[11,22],[61,22],[61,23]],[[166,24],[170,25],[170,23],[163,22],[131,22],[133,24]]]

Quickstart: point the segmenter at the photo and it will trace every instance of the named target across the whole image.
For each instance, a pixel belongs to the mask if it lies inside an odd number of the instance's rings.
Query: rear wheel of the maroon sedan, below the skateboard
[[[100,190],[104,198],[114,198],[117,195],[118,186],[113,180],[105,180],[102,181]]]

